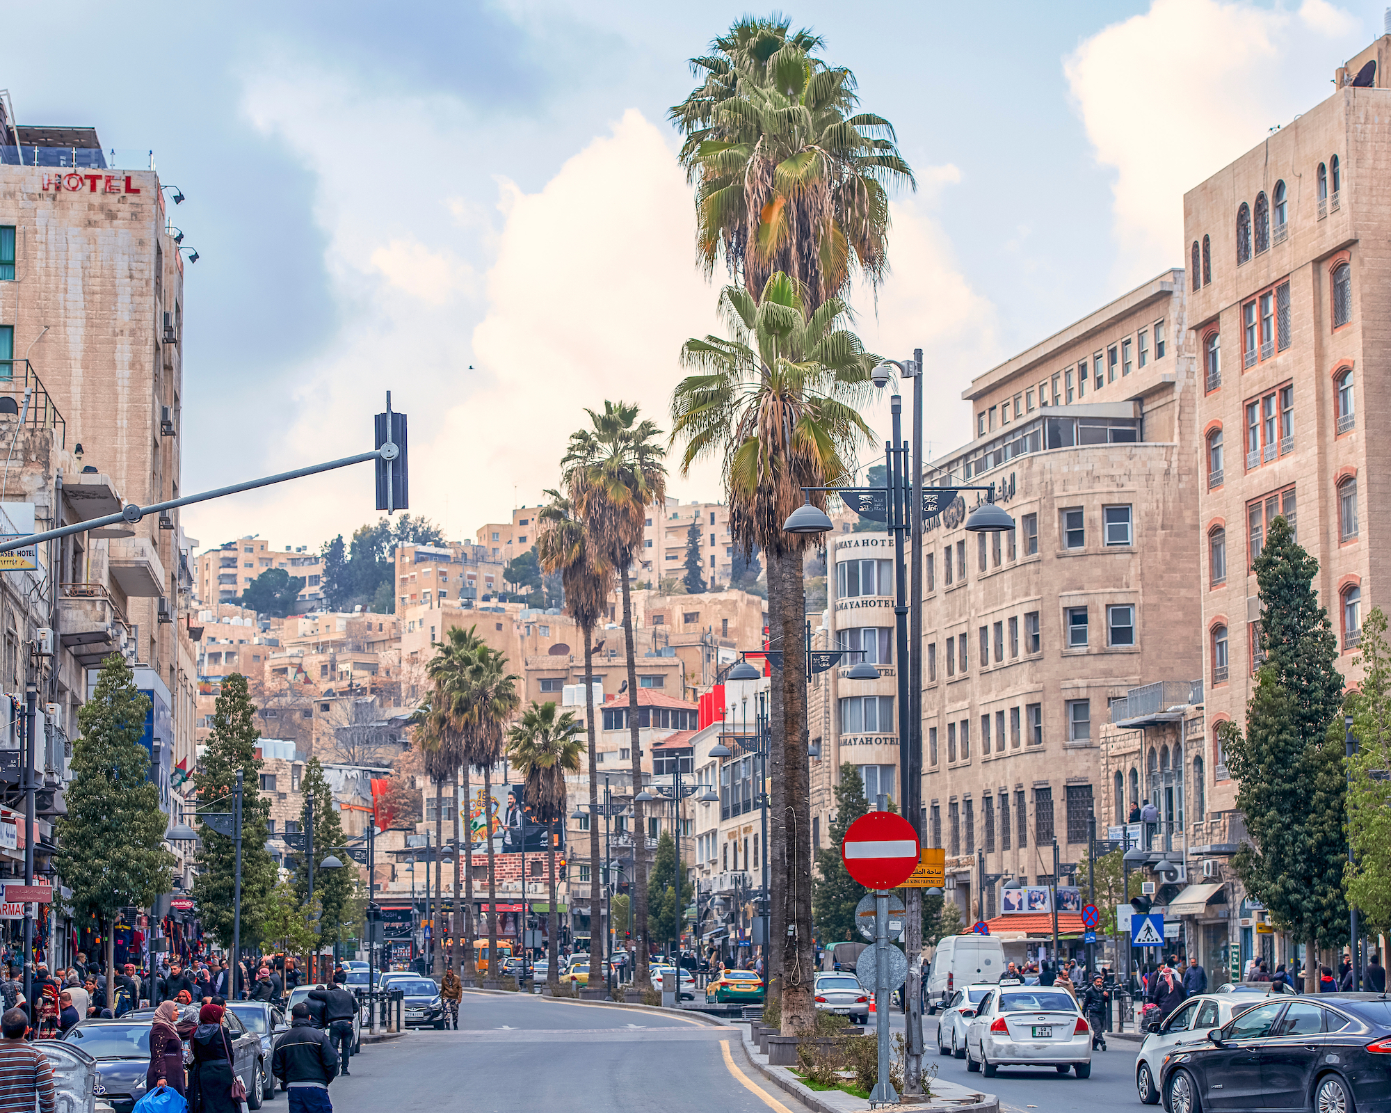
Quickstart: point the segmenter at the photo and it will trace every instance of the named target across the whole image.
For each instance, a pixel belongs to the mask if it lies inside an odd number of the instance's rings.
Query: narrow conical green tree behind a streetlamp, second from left
[[[231,812],[236,771],[242,771],[242,942],[264,938],[270,893],[275,886],[275,863],[266,850],[270,801],[259,787],[262,762],[256,757],[256,708],[246,690],[246,678],[238,672],[223,679],[223,690],[213,708],[213,732],[207,736],[193,785],[199,810]],[[202,846],[198,851],[199,872],[193,896],[204,931],[224,947],[232,945],[232,897],[235,881],[235,846],[206,824],[199,824]]]

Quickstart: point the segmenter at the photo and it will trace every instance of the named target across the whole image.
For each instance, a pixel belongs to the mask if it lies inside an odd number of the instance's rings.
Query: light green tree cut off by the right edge
[[[1362,623],[1358,664],[1362,684],[1348,697],[1358,753],[1348,761],[1348,899],[1370,934],[1391,932],[1391,647],[1387,616],[1377,607]]]

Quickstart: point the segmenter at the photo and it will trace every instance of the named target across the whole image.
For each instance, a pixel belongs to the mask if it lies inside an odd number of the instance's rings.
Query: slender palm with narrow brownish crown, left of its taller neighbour
[[[549,505],[537,515],[540,529],[536,551],[541,568],[561,573],[565,609],[570,612],[584,637],[584,722],[588,728],[590,753],[590,970],[598,963],[608,970],[608,931],[604,927],[604,890],[600,872],[600,767],[594,721],[594,627],[608,607],[613,586],[613,566],[595,550],[584,523],[574,515],[570,499],[559,491],[547,491]],[[597,947],[595,947],[597,943]]]

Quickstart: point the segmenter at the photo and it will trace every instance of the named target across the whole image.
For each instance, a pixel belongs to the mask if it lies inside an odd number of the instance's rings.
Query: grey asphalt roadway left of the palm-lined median
[[[637,1010],[465,993],[459,1031],[369,1043],[328,1096],[335,1113],[805,1113],[753,1071],[739,1038]]]

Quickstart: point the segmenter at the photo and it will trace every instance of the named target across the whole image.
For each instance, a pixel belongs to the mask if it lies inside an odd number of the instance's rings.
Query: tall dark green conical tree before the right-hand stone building
[[[1271,523],[1255,569],[1266,659],[1245,732],[1221,728],[1227,768],[1239,785],[1237,808],[1253,842],[1232,865],[1246,892],[1313,954],[1348,934],[1338,646],[1313,587],[1319,562],[1284,518]],[[1316,968],[1310,960],[1309,992],[1317,989]]]

